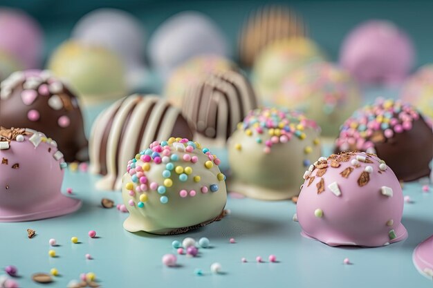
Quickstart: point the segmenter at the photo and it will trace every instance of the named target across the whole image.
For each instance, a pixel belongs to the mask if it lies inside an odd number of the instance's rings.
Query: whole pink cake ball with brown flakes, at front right
[[[407,238],[403,192],[375,154],[321,157],[304,173],[296,204],[302,236],[330,246],[378,247]]]

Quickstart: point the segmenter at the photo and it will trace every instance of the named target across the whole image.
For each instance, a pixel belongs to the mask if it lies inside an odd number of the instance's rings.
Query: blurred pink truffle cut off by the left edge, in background
[[[25,69],[39,68],[44,52],[44,34],[26,12],[0,8],[0,51],[11,55]]]

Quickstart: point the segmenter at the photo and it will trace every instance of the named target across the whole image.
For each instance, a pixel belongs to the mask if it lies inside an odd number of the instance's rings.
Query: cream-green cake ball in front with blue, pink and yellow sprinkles
[[[130,232],[178,234],[223,217],[227,200],[220,160],[185,138],[152,142],[127,164],[122,198]]]

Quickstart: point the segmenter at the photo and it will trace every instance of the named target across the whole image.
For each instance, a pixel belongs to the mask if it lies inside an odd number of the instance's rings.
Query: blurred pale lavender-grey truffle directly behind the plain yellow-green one
[[[75,24],[72,38],[115,52],[125,64],[129,88],[134,90],[141,86],[147,73],[144,64],[145,30],[133,15],[111,8],[93,10]]]

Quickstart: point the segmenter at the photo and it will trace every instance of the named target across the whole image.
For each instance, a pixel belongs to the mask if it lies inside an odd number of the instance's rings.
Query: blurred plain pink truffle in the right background
[[[340,64],[362,84],[396,84],[414,65],[414,47],[394,23],[371,20],[344,39]]]

